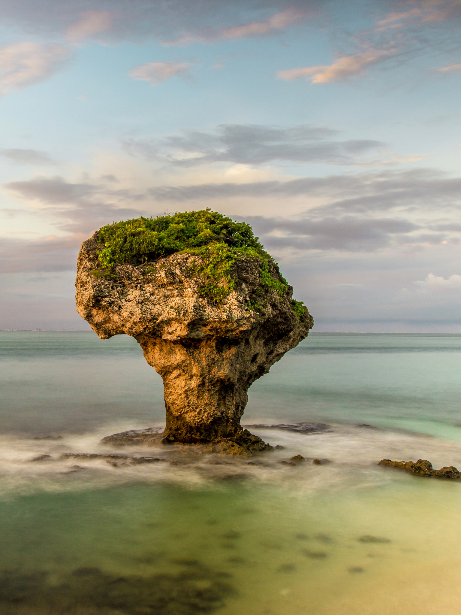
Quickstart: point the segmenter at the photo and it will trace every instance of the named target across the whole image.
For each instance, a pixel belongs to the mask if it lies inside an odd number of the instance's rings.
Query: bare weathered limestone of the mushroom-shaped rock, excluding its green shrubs
[[[95,276],[97,258],[93,236],[77,261],[77,312],[101,339],[125,333],[140,343],[164,381],[164,442],[221,442],[227,452],[266,448],[242,429],[240,418],[248,387],[312,328],[307,310],[304,322],[293,313],[293,288],[285,287],[282,298],[273,289],[257,296],[259,264],[245,258],[234,265],[235,290],[216,307],[199,296],[200,256],[123,264],[110,278]],[[272,275],[280,276],[276,266]],[[249,308],[252,298],[260,314]]]

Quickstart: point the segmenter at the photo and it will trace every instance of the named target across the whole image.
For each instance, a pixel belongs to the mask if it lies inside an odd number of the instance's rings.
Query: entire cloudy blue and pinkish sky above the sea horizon
[[[245,221],[313,331],[461,333],[461,0],[0,0],[0,329],[81,242]]]

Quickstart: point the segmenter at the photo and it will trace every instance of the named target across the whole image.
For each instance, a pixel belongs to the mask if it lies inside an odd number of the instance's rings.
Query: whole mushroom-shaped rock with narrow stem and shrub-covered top
[[[162,376],[165,443],[268,447],[240,426],[248,387],[313,319],[250,226],[209,210],[108,225],[83,242],[76,289],[98,336],[132,335]]]

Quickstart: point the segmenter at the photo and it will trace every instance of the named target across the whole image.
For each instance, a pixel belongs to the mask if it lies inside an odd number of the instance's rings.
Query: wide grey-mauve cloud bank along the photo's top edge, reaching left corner
[[[282,30],[322,5],[323,0],[60,0],[56,10],[55,0],[4,0],[2,20],[71,42],[97,34],[103,42],[154,38],[177,43],[218,39],[221,33],[261,36],[261,30]]]

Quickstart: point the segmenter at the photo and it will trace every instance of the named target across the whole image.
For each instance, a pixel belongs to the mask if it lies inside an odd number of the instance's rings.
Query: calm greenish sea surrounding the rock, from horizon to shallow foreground
[[[250,388],[283,447],[251,458],[101,444],[164,424],[128,336],[0,331],[0,387],[1,615],[461,611],[461,481],[378,465],[461,469],[461,335],[311,333]]]

